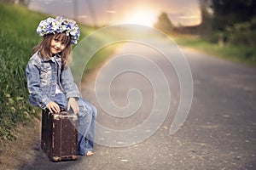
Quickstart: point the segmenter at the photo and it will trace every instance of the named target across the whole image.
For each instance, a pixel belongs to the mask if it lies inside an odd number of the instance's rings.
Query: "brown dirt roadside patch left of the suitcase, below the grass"
[[[33,159],[36,150],[40,150],[41,122],[38,118],[33,122],[19,124],[15,129],[15,141],[4,144],[0,152],[0,170],[19,169]]]

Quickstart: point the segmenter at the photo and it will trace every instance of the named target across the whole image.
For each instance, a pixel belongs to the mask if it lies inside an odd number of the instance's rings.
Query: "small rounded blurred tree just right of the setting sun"
[[[154,24],[154,27],[165,33],[170,33],[173,30],[173,25],[166,13],[160,14],[158,21]]]

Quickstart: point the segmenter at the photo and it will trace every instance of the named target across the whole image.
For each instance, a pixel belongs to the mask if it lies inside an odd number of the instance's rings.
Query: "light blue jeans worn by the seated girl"
[[[97,110],[94,105],[91,105],[83,98],[79,98],[77,102],[79,105],[78,154],[84,156],[88,151],[92,151],[94,147]],[[56,94],[55,103],[67,110],[67,97],[65,94]]]

